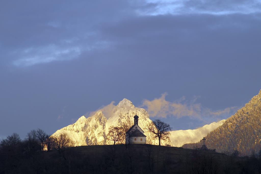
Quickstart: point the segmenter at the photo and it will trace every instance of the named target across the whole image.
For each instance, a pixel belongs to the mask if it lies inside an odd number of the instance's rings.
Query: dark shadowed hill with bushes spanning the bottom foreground
[[[47,152],[28,138],[12,138],[0,144],[0,173],[261,173],[258,156],[150,144],[64,147]]]

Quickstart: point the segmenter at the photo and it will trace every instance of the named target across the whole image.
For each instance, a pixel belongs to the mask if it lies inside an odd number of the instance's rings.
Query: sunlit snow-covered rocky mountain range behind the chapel
[[[65,132],[72,139],[74,146],[103,145],[106,144],[106,134],[109,127],[121,126],[125,123],[133,124],[133,116],[136,114],[136,111],[139,116],[139,126],[145,131],[144,134],[147,136],[147,142],[158,144],[158,140],[154,139],[153,135],[145,129],[146,124],[151,122],[147,111],[143,108],[135,107],[126,98],[112,109],[109,119],[104,117],[102,111],[97,111],[91,117],[85,118],[82,116],[74,124],[57,130],[53,136]],[[194,130],[171,131],[170,140],[162,141],[162,144],[181,147],[185,143],[197,142],[223,123],[224,120],[221,120]]]

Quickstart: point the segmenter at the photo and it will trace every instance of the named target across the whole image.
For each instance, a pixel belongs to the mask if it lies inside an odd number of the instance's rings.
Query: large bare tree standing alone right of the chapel
[[[159,139],[159,146],[161,145],[161,140],[167,140],[169,138],[169,131],[171,131],[169,124],[158,119],[147,124],[146,129],[153,133],[155,138]]]

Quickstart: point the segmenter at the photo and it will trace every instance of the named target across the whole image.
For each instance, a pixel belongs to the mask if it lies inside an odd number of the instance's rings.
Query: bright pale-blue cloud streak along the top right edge
[[[141,15],[181,14],[251,14],[261,12],[259,0],[193,1],[193,0],[147,0],[150,9],[139,11]]]

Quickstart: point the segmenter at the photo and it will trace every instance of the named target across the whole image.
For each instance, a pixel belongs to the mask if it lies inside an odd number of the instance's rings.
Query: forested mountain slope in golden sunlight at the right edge
[[[206,146],[217,152],[232,152],[235,149],[242,155],[257,153],[261,148],[261,90],[205,138]],[[202,144],[203,141],[200,140],[198,143],[184,144],[183,147],[201,147]]]

